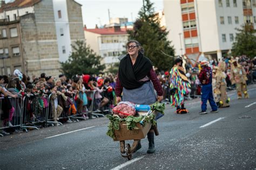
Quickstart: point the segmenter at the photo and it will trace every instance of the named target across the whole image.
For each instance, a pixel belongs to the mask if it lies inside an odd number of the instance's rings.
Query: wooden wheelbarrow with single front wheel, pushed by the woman
[[[119,130],[114,131],[114,136],[116,137],[114,141],[120,141],[120,152],[122,157],[128,160],[132,159],[132,153],[136,150],[140,139],[144,139],[147,133],[150,131],[152,126],[151,123],[145,123],[145,126],[137,123],[136,126],[139,128],[137,130],[127,130],[126,122],[120,122]],[[159,135],[157,126],[153,126],[154,133]],[[125,144],[125,140],[134,140],[132,146],[130,144]]]

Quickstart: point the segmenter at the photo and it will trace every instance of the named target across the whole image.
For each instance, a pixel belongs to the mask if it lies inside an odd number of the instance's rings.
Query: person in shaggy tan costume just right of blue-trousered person
[[[219,94],[219,100],[216,103],[219,107],[229,107],[230,105],[227,97],[227,83],[226,83],[226,64],[225,62],[220,62],[218,67],[215,68],[214,79],[216,81],[216,88],[213,90],[213,93]]]

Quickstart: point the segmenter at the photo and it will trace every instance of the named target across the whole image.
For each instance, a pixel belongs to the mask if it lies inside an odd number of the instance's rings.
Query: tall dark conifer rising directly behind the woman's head
[[[134,22],[133,30],[128,31],[129,39],[138,40],[144,48],[144,55],[149,57],[158,70],[170,70],[174,56],[171,42],[167,40],[168,31],[160,27],[158,18],[154,14],[153,3],[145,0],[145,5],[139,11],[139,17]]]

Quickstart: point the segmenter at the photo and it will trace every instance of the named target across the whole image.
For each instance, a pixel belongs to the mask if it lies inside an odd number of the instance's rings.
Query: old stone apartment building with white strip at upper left
[[[0,73],[60,73],[71,44],[84,40],[81,5],[73,0],[16,0],[0,8]],[[7,57],[7,58],[6,58]]]

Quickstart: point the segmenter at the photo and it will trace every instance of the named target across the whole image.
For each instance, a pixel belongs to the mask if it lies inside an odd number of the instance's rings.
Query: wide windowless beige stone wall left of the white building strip
[[[58,44],[52,1],[34,6],[35,13],[21,17],[22,43],[29,76],[57,77],[60,73]]]

